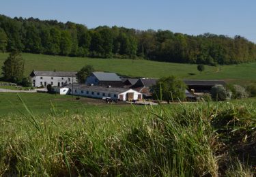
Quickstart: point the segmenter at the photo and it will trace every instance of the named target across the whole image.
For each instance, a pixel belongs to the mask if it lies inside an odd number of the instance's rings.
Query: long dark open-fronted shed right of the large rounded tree
[[[223,80],[183,80],[188,86],[188,89],[195,91],[195,93],[210,93],[212,86],[221,84],[225,86],[226,82]]]

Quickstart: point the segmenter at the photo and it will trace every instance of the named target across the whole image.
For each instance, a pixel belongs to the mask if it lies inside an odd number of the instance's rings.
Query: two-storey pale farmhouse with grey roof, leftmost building
[[[66,71],[32,71],[29,75],[32,85],[35,87],[47,86],[64,86],[66,84],[76,83],[76,72]]]

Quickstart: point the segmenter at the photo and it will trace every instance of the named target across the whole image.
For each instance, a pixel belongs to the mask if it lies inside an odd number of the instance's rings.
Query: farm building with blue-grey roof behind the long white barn
[[[85,84],[94,84],[98,86],[116,86],[123,87],[124,84],[119,76],[115,73],[93,72],[85,80]]]

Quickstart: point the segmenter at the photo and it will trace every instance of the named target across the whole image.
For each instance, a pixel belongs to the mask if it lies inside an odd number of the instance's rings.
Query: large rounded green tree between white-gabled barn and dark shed
[[[166,101],[179,101],[186,98],[186,84],[174,76],[168,78],[160,78],[156,85],[152,86],[154,91],[154,99]]]

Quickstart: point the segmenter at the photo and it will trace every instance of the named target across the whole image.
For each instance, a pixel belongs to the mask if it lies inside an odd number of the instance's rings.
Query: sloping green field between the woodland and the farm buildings
[[[0,54],[0,65],[8,57]],[[25,59],[25,75],[33,69],[78,71],[83,65],[93,65],[97,71],[113,71],[129,77],[160,78],[177,76],[188,79],[226,80],[228,82],[248,84],[256,82],[256,63],[241,65],[224,65],[221,67],[206,66],[205,71],[197,71],[197,65],[165,63],[132,59],[89,59],[79,57],[59,57],[43,54],[23,53]]]

